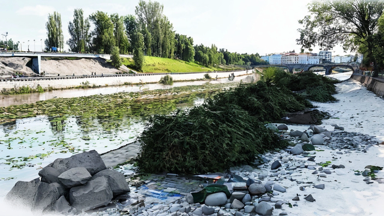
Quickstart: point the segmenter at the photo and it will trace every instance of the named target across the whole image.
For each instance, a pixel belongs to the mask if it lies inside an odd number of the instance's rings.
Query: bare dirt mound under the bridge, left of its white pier
[[[34,76],[30,68],[32,61],[26,57],[1,57],[0,78],[11,78],[12,74],[22,73],[24,76]]]

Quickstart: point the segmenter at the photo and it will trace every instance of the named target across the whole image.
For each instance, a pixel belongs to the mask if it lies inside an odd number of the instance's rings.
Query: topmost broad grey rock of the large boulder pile
[[[50,165],[48,165],[50,166]],[[68,169],[84,167],[93,176],[101,170],[106,169],[103,159],[95,150],[86,151],[70,158],[58,158],[51,164],[59,173],[64,173]]]

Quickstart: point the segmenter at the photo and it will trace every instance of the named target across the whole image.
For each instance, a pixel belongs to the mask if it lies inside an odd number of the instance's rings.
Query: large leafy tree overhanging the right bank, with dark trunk
[[[374,76],[378,75],[377,59],[373,55],[377,23],[384,10],[383,0],[323,0],[308,4],[311,15],[299,23],[300,38],[296,40],[301,48],[312,50],[317,45],[332,49],[343,44],[344,50],[357,51],[367,48],[367,58],[374,63]]]

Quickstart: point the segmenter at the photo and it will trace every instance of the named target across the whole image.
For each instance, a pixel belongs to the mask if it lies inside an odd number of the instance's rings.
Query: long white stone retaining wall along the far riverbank
[[[196,80],[204,78],[204,74],[201,73],[169,73],[174,81],[180,80]],[[217,71],[210,72],[210,76],[215,78],[225,78],[228,75],[234,73],[235,81],[242,78],[238,76],[252,75],[252,71]],[[73,88],[81,85],[82,82],[89,81],[89,85],[105,86],[105,85],[124,85],[124,83],[155,83],[160,80],[165,74],[124,74],[124,75],[104,75],[104,76],[53,76],[44,78],[28,78],[28,79],[13,79],[13,80],[0,80],[0,89],[19,88],[22,86],[30,86],[36,88],[40,85],[43,88],[52,86],[53,88]],[[245,78],[245,76],[244,76]]]

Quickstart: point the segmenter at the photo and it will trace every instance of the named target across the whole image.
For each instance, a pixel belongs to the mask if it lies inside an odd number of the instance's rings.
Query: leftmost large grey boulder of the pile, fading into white
[[[5,196],[5,201],[17,209],[26,209],[34,214],[49,213],[60,197],[58,189],[40,179],[18,181]]]

